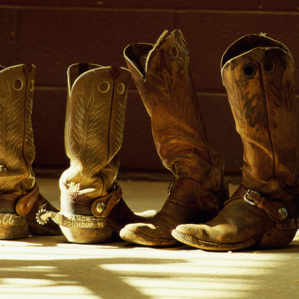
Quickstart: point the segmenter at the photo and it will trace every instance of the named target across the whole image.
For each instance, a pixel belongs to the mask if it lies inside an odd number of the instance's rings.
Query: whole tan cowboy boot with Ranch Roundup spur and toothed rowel
[[[111,242],[127,223],[144,219],[128,208],[115,182],[131,77],[120,67],[68,68],[65,151],[70,167],[60,178],[60,213],[42,211],[39,221],[52,217],[70,242]]]

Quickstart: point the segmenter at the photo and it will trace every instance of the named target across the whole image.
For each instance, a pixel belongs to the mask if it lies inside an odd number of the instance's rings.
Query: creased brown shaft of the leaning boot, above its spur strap
[[[124,57],[164,166],[176,179],[194,179],[209,191],[223,188],[223,160],[208,143],[181,31],[164,31],[155,45],[131,44]]]

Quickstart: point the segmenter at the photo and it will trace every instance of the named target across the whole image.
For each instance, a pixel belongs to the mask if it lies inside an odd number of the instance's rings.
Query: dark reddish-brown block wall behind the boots
[[[290,49],[299,78],[298,7],[299,1],[288,0],[0,0],[0,65],[36,66],[34,166],[65,168],[69,163],[63,144],[69,65],[126,67],[126,45],[155,43],[165,29],[177,28],[187,42],[210,143],[224,157],[226,173],[240,173],[243,149],[222,86],[222,54],[245,34],[267,33]],[[122,170],[164,171],[134,83],[120,159]]]

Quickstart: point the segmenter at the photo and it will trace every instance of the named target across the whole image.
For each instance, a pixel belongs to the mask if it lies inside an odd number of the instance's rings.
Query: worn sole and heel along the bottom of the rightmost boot
[[[201,241],[199,239],[187,236],[180,231],[173,230],[172,235],[180,242],[205,250],[213,251],[227,251],[227,250],[241,250],[249,247],[258,249],[279,249],[286,247],[295,237],[297,230],[279,230],[271,228],[264,231],[248,240],[239,243],[219,244]]]

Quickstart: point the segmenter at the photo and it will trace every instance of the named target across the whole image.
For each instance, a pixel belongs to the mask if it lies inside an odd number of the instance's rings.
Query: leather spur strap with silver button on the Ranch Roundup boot
[[[91,204],[91,212],[97,217],[106,217],[114,206],[119,202],[123,191],[118,183],[114,184],[113,190],[106,196],[96,199]]]

